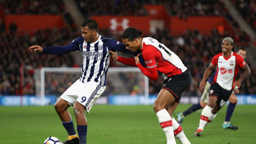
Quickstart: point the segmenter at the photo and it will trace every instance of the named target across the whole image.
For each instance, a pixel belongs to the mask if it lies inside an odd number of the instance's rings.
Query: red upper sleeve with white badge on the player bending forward
[[[147,68],[154,68],[156,66],[154,51],[149,49],[150,46],[146,47],[147,48],[142,51],[142,57]]]

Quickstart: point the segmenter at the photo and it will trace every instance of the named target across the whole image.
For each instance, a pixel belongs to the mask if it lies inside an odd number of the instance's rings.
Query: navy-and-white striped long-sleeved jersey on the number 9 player
[[[101,86],[106,85],[111,57],[109,50],[130,53],[123,43],[103,36],[100,36],[94,43],[86,43],[83,37],[78,37],[66,46],[43,48],[44,52],[51,54],[62,54],[75,50],[80,50],[82,54],[82,76],[79,80],[83,83],[95,81]]]

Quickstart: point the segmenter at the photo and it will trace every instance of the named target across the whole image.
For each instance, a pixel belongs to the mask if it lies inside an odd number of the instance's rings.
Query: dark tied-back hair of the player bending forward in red
[[[129,27],[124,30],[122,34],[122,39],[128,38],[129,41],[133,41],[134,38],[139,38],[140,36],[142,36],[142,34],[142,30],[137,30],[134,27]]]

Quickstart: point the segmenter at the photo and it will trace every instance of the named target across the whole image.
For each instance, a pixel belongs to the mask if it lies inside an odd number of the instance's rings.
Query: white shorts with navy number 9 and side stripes
[[[95,81],[82,83],[80,80],[77,80],[60,96],[60,98],[73,106],[76,101],[81,103],[85,106],[86,112],[89,113],[92,105],[105,89],[106,86],[101,86]]]

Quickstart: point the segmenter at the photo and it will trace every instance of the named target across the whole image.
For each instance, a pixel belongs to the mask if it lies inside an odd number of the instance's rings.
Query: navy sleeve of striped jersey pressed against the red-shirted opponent
[[[108,39],[106,43],[107,43],[108,50],[124,52],[124,53],[132,53],[126,49],[126,46],[123,43],[118,42],[114,39]]]

